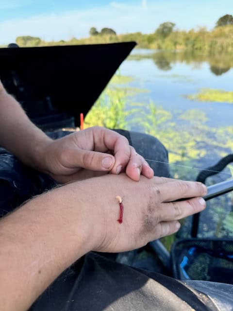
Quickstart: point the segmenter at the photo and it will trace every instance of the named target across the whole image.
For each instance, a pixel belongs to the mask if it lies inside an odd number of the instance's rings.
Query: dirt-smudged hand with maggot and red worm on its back
[[[207,192],[199,182],[144,176],[134,182],[125,174],[91,178],[81,187],[81,200],[87,206],[84,219],[93,230],[89,236],[95,240],[92,250],[101,252],[128,251],[177,232],[178,220],[205,208],[201,196]],[[117,195],[124,206],[121,224],[117,221]],[[191,199],[176,201],[181,198]]]

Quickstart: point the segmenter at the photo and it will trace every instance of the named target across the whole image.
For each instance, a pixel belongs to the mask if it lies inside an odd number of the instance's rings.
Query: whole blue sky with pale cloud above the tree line
[[[176,29],[211,30],[225,14],[233,15],[233,0],[0,0],[0,45],[20,35],[46,41],[87,37],[91,27],[153,33],[166,21]]]

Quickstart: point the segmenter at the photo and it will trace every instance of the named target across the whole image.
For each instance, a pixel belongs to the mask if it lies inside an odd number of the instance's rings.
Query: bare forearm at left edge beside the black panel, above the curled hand
[[[0,145],[25,164],[37,168],[40,153],[51,139],[27,117],[17,101],[0,88]]]

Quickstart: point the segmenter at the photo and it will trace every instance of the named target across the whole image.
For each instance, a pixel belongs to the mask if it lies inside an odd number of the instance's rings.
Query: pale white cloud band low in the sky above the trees
[[[147,10],[142,7],[147,7]],[[213,27],[218,17],[224,15],[225,11],[224,6],[219,10],[215,5],[210,11],[209,3],[203,4],[200,11],[199,6],[192,2],[184,7],[182,3],[174,4],[172,0],[158,2],[142,0],[134,5],[114,1],[98,8],[2,21],[0,44],[14,42],[19,35],[38,36],[48,41],[67,40],[71,36],[80,38],[87,36],[92,26],[99,31],[103,27],[110,27],[117,34],[136,31],[152,33],[165,21],[176,23],[178,29],[191,29],[197,25]]]

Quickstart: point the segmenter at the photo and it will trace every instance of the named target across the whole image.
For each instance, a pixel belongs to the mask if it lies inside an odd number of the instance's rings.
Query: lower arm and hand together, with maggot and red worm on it
[[[177,232],[177,220],[204,209],[206,192],[201,183],[143,176],[135,182],[122,173],[34,198],[0,221],[0,310],[27,310],[90,250],[124,252]]]

